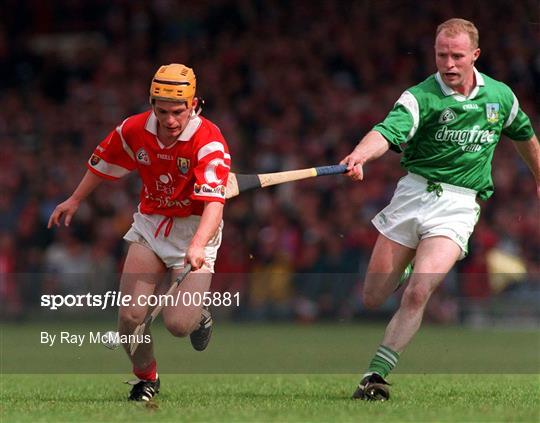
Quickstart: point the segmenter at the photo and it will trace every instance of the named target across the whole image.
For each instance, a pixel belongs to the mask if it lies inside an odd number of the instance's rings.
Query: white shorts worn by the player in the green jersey
[[[480,216],[476,191],[439,183],[427,191],[428,181],[413,173],[398,182],[390,204],[371,221],[387,238],[416,249],[420,240],[445,236],[461,248],[461,260],[467,255],[467,243]]]

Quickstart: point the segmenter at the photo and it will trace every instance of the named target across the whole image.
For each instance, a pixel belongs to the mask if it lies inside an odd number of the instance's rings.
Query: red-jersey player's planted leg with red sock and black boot
[[[154,294],[165,271],[165,266],[152,250],[137,243],[130,245],[120,281],[120,292],[122,295],[130,295],[132,301],[129,306],[121,306],[118,313],[118,331],[121,335],[131,335],[137,325],[142,323],[148,306],[139,305],[137,299]],[[129,399],[148,401],[159,392],[153,342],[142,342],[133,356],[129,354],[129,343],[123,346],[133,364],[135,375],[141,380],[131,390]]]

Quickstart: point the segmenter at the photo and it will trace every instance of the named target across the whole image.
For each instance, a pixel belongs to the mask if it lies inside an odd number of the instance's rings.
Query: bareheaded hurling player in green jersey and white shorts
[[[511,89],[480,73],[478,30],[450,19],[437,28],[437,73],[406,90],[341,163],[355,181],[363,165],[388,149],[404,151],[407,169],[390,204],[373,219],[379,236],[364,281],[363,301],[375,308],[396,289],[414,258],[401,304],[353,394],[389,398],[386,376],[418,331],[426,304],[454,263],[467,253],[478,219],[477,198],[493,192],[491,161],[506,135],[536,180],[540,197],[540,146]]]

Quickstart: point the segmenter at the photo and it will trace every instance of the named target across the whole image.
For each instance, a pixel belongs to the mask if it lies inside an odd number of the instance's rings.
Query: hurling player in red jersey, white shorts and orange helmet
[[[231,157],[219,128],[199,116],[193,70],[180,64],[161,66],[150,86],[151,109],[128,117],[95,149],[88,170],[71,197],[53,211],[48,227],[69,226],[80,203],[103,180],[136,170],[143,186],[138,211],[124,236],[130,243],[120,291],[134,299],[119,310],[119,333],[131,335],[148,312],[138,301],[164,293],[185,264],[192,272],[182,282],[176,305],[163,308],[165,326],[174,336],[190,335],[196,350],[208,345],[210,312],[183,299],[210,289],[221,244],[225,187]],[[194,295],[195,294],[195,295]],[[197,303],[197,302],[196,302]],[[200,302],[198,302],[200,303]],[[124,344],[127,351],[129,343]],[[148,401],[159,391],[153,343],[143,342],[133,357],[139,379],[129,399]]]

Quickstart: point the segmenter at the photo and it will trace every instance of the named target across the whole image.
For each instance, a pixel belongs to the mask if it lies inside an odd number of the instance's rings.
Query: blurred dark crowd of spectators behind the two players
[[[149,107],[159,65],[194,68],[203,115],[227,139],[233,171],[334,164],[407,87],[435,71],[436,26],[463,17],[480,31],[477,68],[511,86],[538,134],[539,4],[509,4],[3,1],[0,314],[24,316],[42,293],[117,289],[140,189],[135,175],[103,183],[70,228],[46,224],[98,142]],[[369,164],[362,183],[317,178],[229,201],[213,289],[241,293],[233,316],[310,322],[364,313],[361,281],[377,236],[370,219],[404,175],[399,159],[388,152]],[[428,319],[459,319],[463,298],[538,298],[539,203],[508,139],[497,147],[493,177],[470,255],[431,301]]]

